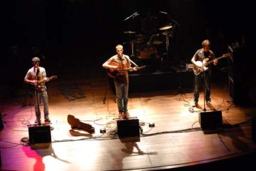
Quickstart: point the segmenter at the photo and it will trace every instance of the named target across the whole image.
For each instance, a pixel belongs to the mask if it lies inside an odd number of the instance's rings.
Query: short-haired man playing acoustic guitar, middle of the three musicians
[[[128,87],[129,78],[128,70],[137,70],[136,67],[131,67],[130,57],[123,54],[123,46],[116,46],[116,55],[109,58],[102,64],[105,69],[115,70],[117,72],[114,77],[114,86],[116,87],[117,107],[119,111],[119,117],[128,117]]]

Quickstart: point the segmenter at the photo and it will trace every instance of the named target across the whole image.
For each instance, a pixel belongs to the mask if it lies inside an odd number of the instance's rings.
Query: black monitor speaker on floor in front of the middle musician
[[[117,120],[117,134],[119,138],[139,137],[139,119]]]

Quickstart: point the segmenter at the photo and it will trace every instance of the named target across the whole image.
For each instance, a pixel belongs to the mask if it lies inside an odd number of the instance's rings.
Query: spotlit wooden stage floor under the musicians
[[[79,84],[86,98],[73,101],[64,98],[58,85],[70,82]],[[1,111],[7,114],[0,134],[2,170],[182,169],[252,154],[256,145],[251,139],[250,120],[255,110],[236,105],[226,110],[230,98],[224,87],[222,84],[212,87],[211,110],[222,111],[223,119],[222,128],[212,131],[201,130],[198,121],[198,110],[201,109],[190,106],[192,90],[184,90],[183,95],[177,93],[178,90],[130,93],[129,111],[131,117],[140,120],[143,134],[140,141],[123,143],[115,138],[117,126],[113,119],[117,117],[117,104],[110,87],[105,104],[103,102],[105,79],[49,82],[49,111],[54,129],[51,131],[52,143],[46,149],[32,149],[20,144],[22,138],[28,137],[27,125],[33,124],[35,119],[34,107],[20,107],[24,102],[23,95],[27,95],[26,103],[30,102],[28,90],[20,89],[15,98],[2,99]],[[201,93],[201,108],[202,98]],[[95,134],[80,131],[77,134],[80,136],[71,135],[68,114],[94,126]],[[155,127],[149,128],[148,123],[155,123]],[[107,134],[100,133],[104,128]],[[207,170],[213,168],[208,165]]]

